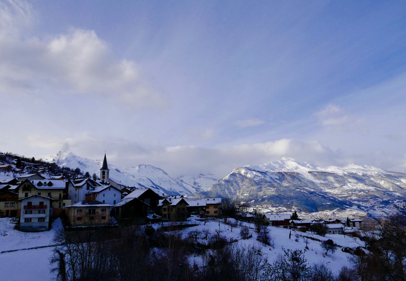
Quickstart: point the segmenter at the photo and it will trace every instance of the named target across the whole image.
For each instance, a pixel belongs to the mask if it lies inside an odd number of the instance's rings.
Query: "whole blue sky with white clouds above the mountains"
[[[406,2],[0,0],[0,151],[170,175],[406,164]]]

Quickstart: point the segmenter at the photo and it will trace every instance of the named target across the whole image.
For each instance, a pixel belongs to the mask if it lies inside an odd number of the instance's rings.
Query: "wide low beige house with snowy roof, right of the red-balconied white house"
[[[113,205],[95,200],[80,201],[67,206],[69,222],[72,226],[108,225],[112,207]]]

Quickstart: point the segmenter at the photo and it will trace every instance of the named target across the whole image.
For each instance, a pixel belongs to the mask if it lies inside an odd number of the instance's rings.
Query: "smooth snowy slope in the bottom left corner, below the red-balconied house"
[[[50,231],[22,232],[14,229],[11,218],[0,218],[0,272],[1,280],[51,280],[49,258],[53,246],[54,232],[62,227],[60,218],[52,223]],[[2,251],[18,250],[1,253]]]

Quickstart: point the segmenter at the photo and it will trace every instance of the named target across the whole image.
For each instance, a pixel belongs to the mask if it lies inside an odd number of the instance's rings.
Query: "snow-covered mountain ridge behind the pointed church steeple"
[[[45,161],[55,162],[61,167],[79,168],[91,175],[96,173],[97,176],[100,175],[99,169],[102,166],[100,160],[82,158],[71,151],[59,151],[56,155],[46,158]],[[147,164],[120,168],[108,162],[108,168],[110,169],[110,179],[126,186],[148,187],[158,194],[164,192],[167,195],[185,195],[201,191],[201,188],[181,182],[179,179],[170,177],[164,170]]]

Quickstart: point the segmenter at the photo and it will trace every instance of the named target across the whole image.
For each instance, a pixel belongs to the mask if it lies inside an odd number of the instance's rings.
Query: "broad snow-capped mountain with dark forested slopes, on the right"
[[[282,158],[234,169],[202,193],[304,212],[371,210],[406,199],[406,174],[355,164],[317,167]]]

